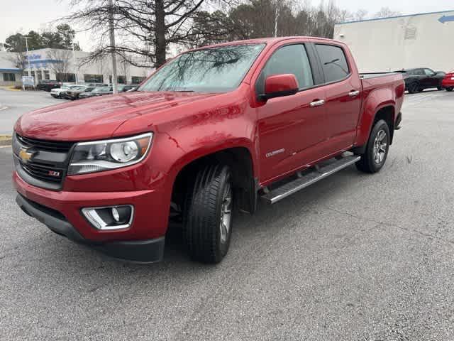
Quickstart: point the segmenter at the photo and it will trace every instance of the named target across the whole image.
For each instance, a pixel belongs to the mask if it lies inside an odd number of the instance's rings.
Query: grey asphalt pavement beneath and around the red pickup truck
[[[0,148],[0,340],[454,340],[454,93],[402,112],[380,173],[238,215],[217,266],[189,261],[178,227],[147,266],[50,232]]]

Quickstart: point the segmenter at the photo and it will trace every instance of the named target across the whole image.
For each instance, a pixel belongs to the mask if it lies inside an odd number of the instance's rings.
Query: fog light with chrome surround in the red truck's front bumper
[[[127,229],[134,216],[133,205],[85,207],[82,214],[96,229]]]

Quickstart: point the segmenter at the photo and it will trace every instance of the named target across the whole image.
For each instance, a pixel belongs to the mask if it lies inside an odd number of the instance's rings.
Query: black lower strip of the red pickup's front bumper
[[[140,263],[153,263],[162,260],[165,237],[126,242],[94,242],[84,239],[60,212],[39,205],[20,194],[17,195],[16,202],[23,212],[45,224],[52,232],[65,236],[73,242],[89,245],[115,259]]]

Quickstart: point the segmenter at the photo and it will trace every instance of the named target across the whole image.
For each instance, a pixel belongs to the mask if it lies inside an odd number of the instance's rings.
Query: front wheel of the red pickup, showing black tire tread
[[[226,192],[230,191],[230,202]],[[222,220],[230,206],[230,218]],[[228,166],[211,164],[196,174],[189,185],[183,212],[183,242],[196,261],[216,264],[230,245],[233,217],[233,184]],[[222,222],[221,222],[222,221]],[[223,228],[226,227],[227,228]]]

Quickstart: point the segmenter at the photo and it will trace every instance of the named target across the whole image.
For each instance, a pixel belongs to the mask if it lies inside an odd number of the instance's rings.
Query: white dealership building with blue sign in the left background
[[[0,85],[22,85],[22,75],[39,80],[59,80],[78,83],[111,83],[111,58],[85,63],[88,52],[44,48],[31,50],[21,67],[17,53],[0,51]],[[28,60],[29,59],[29,60]],[[28,63],[28,61],[30,63]],[[136,67],[117,58],[117,75],[120,84],[137,84],[150,75],[153,68]]]

